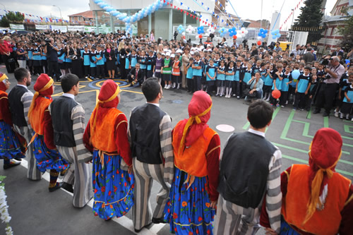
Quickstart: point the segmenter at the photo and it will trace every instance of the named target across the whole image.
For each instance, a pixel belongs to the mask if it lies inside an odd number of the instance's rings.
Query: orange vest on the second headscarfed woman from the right
[[[186,147],[184,152],[179,155],[178,150],[180,142],[177,142],[177,140],[179,140],[179,130],[182,128],[180,123],[181,122],[177,123],[173,131],[172,145],[174,149],[175,166],[192,176],[207,176],[206,151],[208,150],[208,145],[210,145],[213,135],[217,135],[217,132],[213,131],[211,128],[206,128],[203,135],[201,135],[193,145]]]

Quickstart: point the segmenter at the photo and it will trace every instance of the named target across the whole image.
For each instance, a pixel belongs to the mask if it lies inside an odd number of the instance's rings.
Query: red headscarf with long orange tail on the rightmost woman
[[[342,155],[342,138],[340,133],[332,128],[321,128],[313,137],[309,147],[309,186],[311,197],[304,224],[311,218],[316,205],[321,205],[320,195],[324,186],[333,176],[336,164]]]

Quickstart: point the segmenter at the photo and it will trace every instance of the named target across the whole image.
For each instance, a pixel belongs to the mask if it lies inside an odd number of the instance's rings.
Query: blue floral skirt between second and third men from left
[[[93,212],[102,219],[121,217],[133,206],[133,174],[120,169],[120,155],[102,157],[103,164],[99,151],[93,151]]]

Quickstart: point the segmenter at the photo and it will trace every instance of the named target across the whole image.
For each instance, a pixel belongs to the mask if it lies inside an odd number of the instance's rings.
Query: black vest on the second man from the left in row
[[[61,96],[50,104],[54,128],[54,144],[63,147],[75,147],[71,110],[78,103],[70,97]]]

